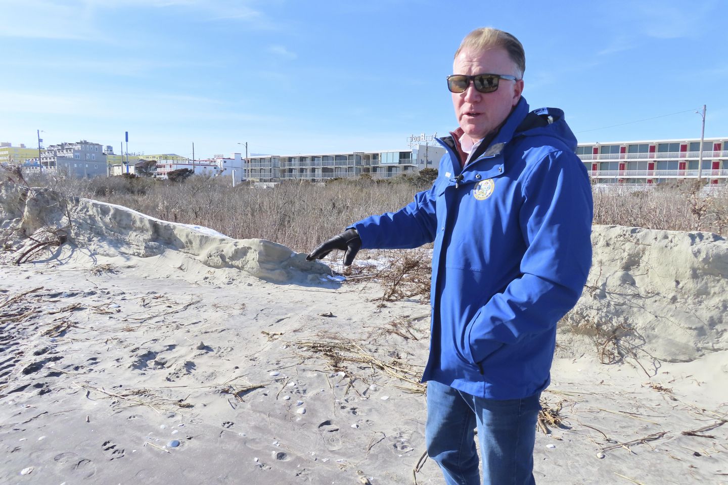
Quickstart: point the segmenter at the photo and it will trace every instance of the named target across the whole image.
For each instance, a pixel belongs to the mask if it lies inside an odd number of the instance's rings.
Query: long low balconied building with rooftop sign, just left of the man
[[[424,168],[437,169],[444,154],[444,148],[428,144],[397,151],[253,156],[245,167],[245,178],[261,182],[320,181],[365,174],[391,178]]]

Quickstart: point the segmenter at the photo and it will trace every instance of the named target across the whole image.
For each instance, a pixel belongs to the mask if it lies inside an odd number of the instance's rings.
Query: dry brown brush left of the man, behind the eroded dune
[[[300,252],[355,220],[408,204],[417,191],[411,183],[373,180],[232,188],[227,179],[202,176],[183,183],[109,177],[36,179],[33,184],[63,186],[62,193],[123,205],[162,220],[204,225],[235,239],[267,239]]]

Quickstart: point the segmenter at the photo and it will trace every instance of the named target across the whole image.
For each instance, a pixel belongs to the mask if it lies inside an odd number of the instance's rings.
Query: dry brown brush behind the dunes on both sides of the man
[[[428,175],[428,174],[425,174]],[[347,225],[408,204],[427,177],[285,181],[274,188],[232,187],[223,177],[195,175],[181,183],[147,177],[79,180],[36,177],[30,183],[130,207],[177,223],[204,225],[236,239],[260,238],[309,251]],[[594,223],[676,231],[728,230],[728,191],[705,193],[697,181],[645,191],[594,191]]]

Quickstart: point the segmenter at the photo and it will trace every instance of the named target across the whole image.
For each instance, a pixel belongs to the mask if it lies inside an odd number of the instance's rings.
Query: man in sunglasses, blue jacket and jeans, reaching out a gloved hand
[[[534,484],[539,396],[558,320],[591,265],[591,188],[563,112],[529,113],[518,39],[480,28],[448,76],[459,128],[429,191],[309,254],[433,242],[427,453],[447,484]]]

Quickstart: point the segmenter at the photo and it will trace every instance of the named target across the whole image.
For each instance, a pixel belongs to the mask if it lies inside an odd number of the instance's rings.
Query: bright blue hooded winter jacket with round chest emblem
[[[449,138],[449,139],[448,139]],[[521,98],[461,169],[451,137],[438,178],[397,212],[355,223],[364,248],[434,241],[430,358],[422,380],[473,396],[532,396],[550,382],[556,323],[591,265],[589,179],[563,111]]]

